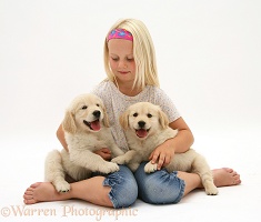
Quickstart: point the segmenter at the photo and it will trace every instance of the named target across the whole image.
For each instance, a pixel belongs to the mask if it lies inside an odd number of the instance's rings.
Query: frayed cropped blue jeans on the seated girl
[[[128,208],[138,198],[151,204],[178,203],[184,193],[184,181],[177,176],[177,172],[165,170],[154,173],[144,172],[145,162],[141,163],[133,173],[126,165],[120,165],[118,172],[107,175],[103,185],[109,185],[110,200],[116,209]]]

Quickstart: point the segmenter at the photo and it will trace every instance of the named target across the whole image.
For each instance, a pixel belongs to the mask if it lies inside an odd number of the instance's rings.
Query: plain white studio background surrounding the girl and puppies
[[[22,205],[26,188],[43,180],[47,152],[61,149],[56,131],[64,109],[106,78],[103,41],[121,18],[148,27],[161,88],[194,133],[194,148],[212,168],[234,168],[244,179],[241,190],[224,190],[238,191],[229,200],[244,193],[231,204],[250,196],[259,203],[251,181],[260,185],[260,14],[259,0],[0,0],[1,206]],[[197,208],[195,196],[188,202]],[[182,211],[159,206],[173,208]],[[243,211],[237,215],[245,221]]]

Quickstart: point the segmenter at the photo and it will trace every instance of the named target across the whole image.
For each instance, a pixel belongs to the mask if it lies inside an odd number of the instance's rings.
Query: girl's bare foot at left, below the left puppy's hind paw
[[[70,199],[69,193],[58,193],[54,186],[49,182],[33,183],[23,194],[23,202],[26,204],[67,199]]]

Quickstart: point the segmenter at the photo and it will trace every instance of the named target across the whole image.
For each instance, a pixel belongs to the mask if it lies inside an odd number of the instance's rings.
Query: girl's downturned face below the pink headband
[[[135,78],[133,42],[124,39],[111,39],[108,42],[109,62],[118,83],[130,83]]]

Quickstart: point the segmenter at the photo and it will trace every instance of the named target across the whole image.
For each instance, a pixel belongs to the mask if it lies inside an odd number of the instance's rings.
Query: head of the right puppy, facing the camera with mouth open
[[[120,123],[123,129],[130,129],[139,139],[143,140],[165,129],[169,121],[159,105],[139,102],[128,108],[120,117]]]

